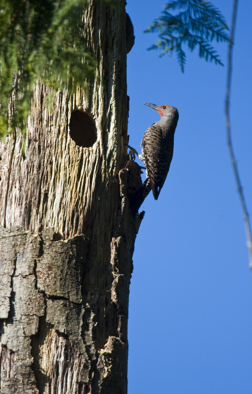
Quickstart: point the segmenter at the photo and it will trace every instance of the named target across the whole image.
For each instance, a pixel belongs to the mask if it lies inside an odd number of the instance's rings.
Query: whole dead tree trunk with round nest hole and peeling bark
[[[1,394],[127,392],[140,219],[126,196],[125,2],[90,1],[84,31],[92,86],[59,91],[49,110],[39,82],[25,153],[19,131],[1,141]]]

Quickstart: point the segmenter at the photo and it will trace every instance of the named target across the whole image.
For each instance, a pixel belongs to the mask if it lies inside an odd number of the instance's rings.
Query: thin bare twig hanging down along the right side
[[[234,156],[234,150],[232,145],[231,139],[231,129],[230,129],[230,88],[231,88],[231,74],[232,74],[232,52],[233,52],[233,44],[234,44],[234,32],[235,32],[235,22],[236,22],[236,15],[237,15],[237,6],[238,0],[234,0],[234,8],[233,8],[233,18],[232,18],[232,27],[231,27],[231,36],[229,42],[229,49],[228,49],[228,71],[227,71],[227,83],[226,83],[226,99],[225,99],[225,115],[226,115],[226,132],[227,132],[227,144],[229,148],[229,153],[231,157],[231,162],[233,165],[234,176],[236,180],[236,184],[238,187],[239,196],[242,203],[242,209],[244,214],[244,221],[246,227],[246,234],[247,234],[247,246],[249,250],[249,258],[250,258],[250,267],[252,268],[252,236],[251,236],[251,226],[249,220],[249,213],[247,210],[247,205],[243,193],[243,188],[238,172],[237,163]]]

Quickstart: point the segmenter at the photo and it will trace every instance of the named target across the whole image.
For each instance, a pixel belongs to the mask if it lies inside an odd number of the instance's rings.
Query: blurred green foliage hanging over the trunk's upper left
[[[84,0],[0,0],[0,133],[26,130],[35,81],[56,93],[94,75],[82,14]],[[8,113],[14,98],[12,115]]]

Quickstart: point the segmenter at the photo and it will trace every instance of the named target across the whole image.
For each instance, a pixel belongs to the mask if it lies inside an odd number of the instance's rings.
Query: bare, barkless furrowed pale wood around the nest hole
[[[80,233],[92,236],[93,223],[104,234],[112,224],[127,143],[124,1],[115,8],[104,1],[91,2],[84,21],[99,64],[93,83],[73,96],[58,91],[51,110],[46,99],[50,89],[38,83],[25,154],[25,137],[18,132],[1,144],[0,224],[4,227],[24,226],[36,233],[52,227],[68,238]],[[97,141],[90,148],[76,145],[70,137],[69,122],[77,108],[94,120]]]

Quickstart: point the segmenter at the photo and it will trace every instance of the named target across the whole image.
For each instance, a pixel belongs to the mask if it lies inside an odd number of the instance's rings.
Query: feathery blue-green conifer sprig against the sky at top
[[[168,10],[181,10],[172,15]],[[227,24],[222,13],[208,1],[174,0],[164,6],[162,16],[156,19],[144,33],[158,32],[159,40],[148,49],[161,49],[160,56],[176,52],[182,72],[185,70],[186,54],[182,44],[191,51],[199,48],[199,57],[222,65],[216,50],[209,44],[229,41]]]

